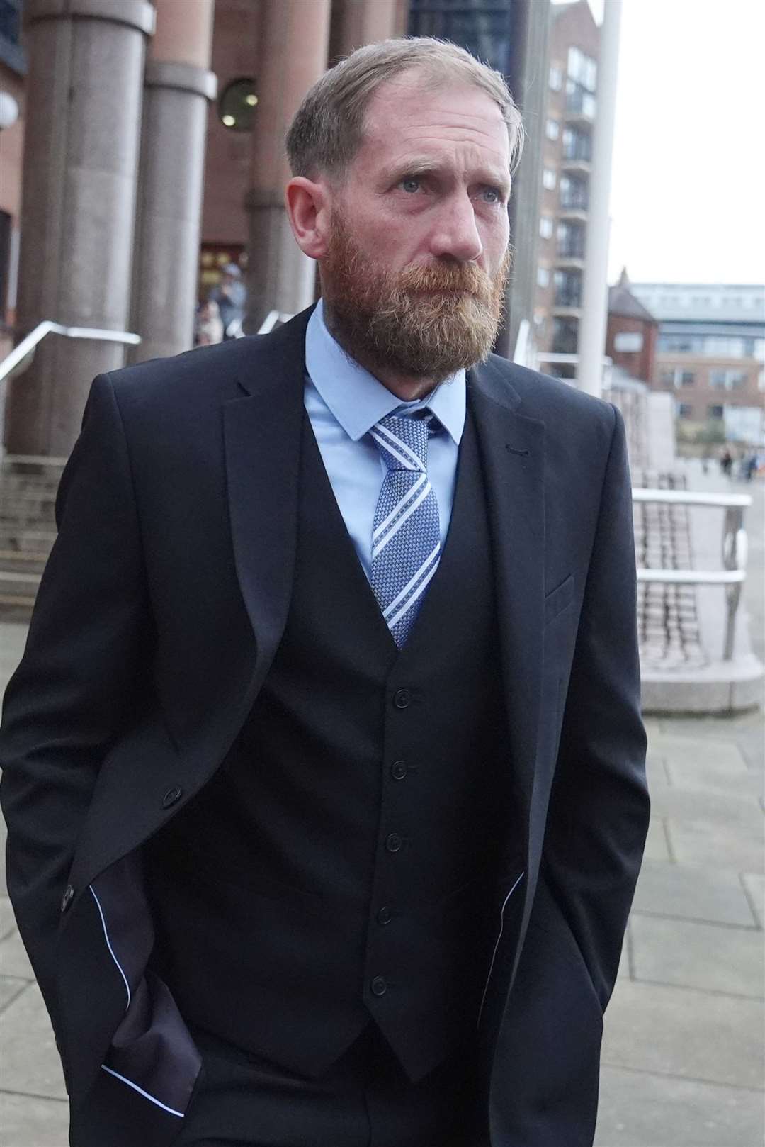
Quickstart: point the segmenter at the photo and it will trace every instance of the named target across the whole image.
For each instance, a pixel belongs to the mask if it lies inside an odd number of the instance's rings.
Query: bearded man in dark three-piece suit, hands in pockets
[[[648,818],[624,428],[490,354],[520,119],[435,40],[288,136],[322,303],[99,377],[7,694],[75,1147],[584,1147]]]

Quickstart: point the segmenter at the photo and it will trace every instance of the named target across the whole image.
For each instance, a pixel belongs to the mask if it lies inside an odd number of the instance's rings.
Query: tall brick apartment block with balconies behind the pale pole
[[[534,343],[541,369],[573,377],[572,364],[544,354],[578,348],[600,30],[587,0],[552,5],[549,21]]]

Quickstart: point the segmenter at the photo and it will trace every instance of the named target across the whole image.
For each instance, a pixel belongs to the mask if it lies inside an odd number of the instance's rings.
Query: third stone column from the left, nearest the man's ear
[[[284,210],[289,166],[284,135],[303,96],[327,68],[329,0],[263,0],[258,107],[249,214],[244,328],[272,310],[295,313],[314,298],[315,264],[300,251]]]

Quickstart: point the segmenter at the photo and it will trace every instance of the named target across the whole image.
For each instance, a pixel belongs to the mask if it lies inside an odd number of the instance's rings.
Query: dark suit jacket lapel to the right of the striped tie
[[[540,708],[545,595],[545,426],[490,362],[469,375],[495,564],[513,773],[528,817]]]

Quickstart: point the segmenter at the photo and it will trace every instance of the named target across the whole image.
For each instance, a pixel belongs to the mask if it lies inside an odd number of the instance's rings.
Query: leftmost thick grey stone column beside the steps
[[[29,60],[17,323],[126,330],[147,0],[25,0]],[[9,454],[64,457],[118,343],[48,335],[10,385]]]

